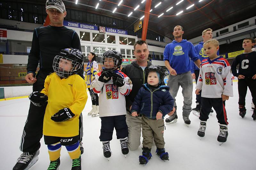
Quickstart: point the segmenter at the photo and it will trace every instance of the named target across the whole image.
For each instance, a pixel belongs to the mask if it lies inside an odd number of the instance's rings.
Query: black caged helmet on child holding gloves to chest
[[[105,63],[105,61],[113,61],[114,64]],[[100,59],[100,65],[102,71],[114,71],[121,67],[123,62],[122,54],[117,50],[109,50],[103,53]]]

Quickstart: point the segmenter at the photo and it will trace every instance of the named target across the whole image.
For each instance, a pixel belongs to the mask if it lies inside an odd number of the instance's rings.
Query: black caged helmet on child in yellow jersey
[[[64,60],[67,63],[71,62],[71,67],[68,70],[62,69],[59,66],[60,60]],[[53,59],[53,70],[54,72],[62,78],[67,78],[68,76],[77,73],[84,64],[84,55],[78,49],[66,48],[60,50],[60,53],[56,55]]]

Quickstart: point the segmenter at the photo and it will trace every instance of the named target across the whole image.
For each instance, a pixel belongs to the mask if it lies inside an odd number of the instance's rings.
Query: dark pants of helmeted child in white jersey
[[[128,137],[128,126],[126,124],[125,115],[100,117],[100,119],[100,141],[104,142],[112,140],[114,127],[116,129],[117,139]]]

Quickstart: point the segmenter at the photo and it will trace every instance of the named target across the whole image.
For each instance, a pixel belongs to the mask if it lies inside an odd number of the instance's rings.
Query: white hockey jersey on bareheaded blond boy
[[[202,89],[201,96],[221,98],[221,95],[233,96],[231,67],[228,60],[218,57],[214,60],[202,60],[196,89]]]

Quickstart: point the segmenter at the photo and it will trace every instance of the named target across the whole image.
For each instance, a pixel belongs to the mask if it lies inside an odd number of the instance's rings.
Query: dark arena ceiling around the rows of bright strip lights
[[[18,0],[17,0],[18,1]],[[46,0],[34,0],[34,3],[45,4]],[[125,20],[133,24],[144,15],[146,1],[143,0],[62,0],[68,9],[77,9],[108,17]],[[155,6],[160,3],[156,8]],[[255,16],[255,0],[152,0],[148,29],[173,39],[172,32],[175,25],[184,28],[185,39],[192,39],[201,35],[206,28],[217,30]],[[30,1],[31,3],[31,1]],[[96,5],[99,3],[97,9]],[[189,9],[188,6],[194,4]],[[134,11],[136,6],[140,7]],[[167,11],[173,7],[171,10]],[[113,13],[112,11],[115,9]],[[167,11],[167,12],[166,12]],[[176,15],[183,11],[180,15]],[[132,15],[128,17],[128,14]],[[163,16],[159,17],[160,14]],[[100,25],[99,25],[100,26]],[[125,28],[120,28],[125,29]],[[126,28],[127,29],[127,28]]]

